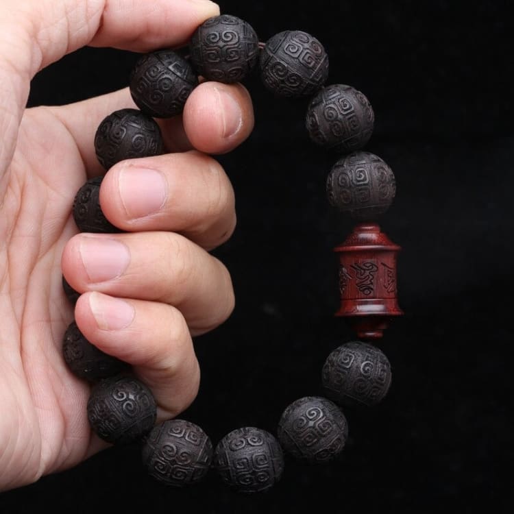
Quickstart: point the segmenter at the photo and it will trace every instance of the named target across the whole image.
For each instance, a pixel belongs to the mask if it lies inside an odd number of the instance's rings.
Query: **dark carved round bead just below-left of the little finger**
[[[143,382],[130,376],[116,376],[93,385],[87,413],[98,437],[125,445],[142,439],[154,428],[157,405]]]

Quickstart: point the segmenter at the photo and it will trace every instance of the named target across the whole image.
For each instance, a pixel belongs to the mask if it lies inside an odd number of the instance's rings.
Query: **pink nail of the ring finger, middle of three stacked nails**
[[[83,236],[79,252],[89,282],[93,284],[121,276],[130,262],[129,249],[109,238]]]

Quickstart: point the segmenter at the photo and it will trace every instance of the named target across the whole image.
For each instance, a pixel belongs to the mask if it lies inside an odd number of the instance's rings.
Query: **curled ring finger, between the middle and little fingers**
[[[79,293],[99,291],[178,308],[193,335],[212,330],[234,309],[225,266],[173,232],[77,234],[64,247],[61,265]]]

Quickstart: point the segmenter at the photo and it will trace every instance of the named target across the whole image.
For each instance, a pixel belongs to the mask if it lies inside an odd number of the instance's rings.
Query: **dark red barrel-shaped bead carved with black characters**
[[[341,245],[336,316],[345,317],[359,339],[378,339],[390,321],[403,315],[397,304],[396,262],[401,248],[376,223],[354,227]]]

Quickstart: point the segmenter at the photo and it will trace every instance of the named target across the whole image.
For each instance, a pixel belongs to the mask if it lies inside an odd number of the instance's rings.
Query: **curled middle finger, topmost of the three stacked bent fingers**
[[[103,178],[100,205],[127,232],[180,232],[206,249],[234,232],[234,190],[223,168],[197,151],[116,164]]]

